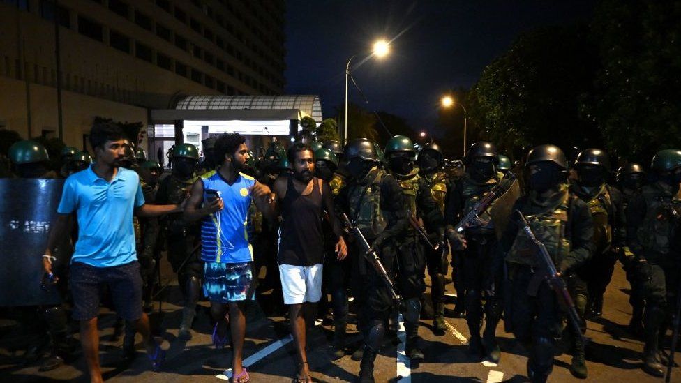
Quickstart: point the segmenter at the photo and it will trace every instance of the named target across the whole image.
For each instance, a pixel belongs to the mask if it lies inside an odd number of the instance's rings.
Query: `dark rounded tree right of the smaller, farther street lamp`
[[[468,121],[511,154],[547,143],[599,147],[595,123],[580,114],[595,62],[583,25],[525,33],[483,70],[467,98]]]

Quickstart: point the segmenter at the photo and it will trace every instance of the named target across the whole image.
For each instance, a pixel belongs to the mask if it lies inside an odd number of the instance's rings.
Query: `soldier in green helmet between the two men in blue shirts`
[[[156,193],[157,204],[179,204],[188,197],[199,162],[199,151],[192,144],[177,144],[172,152],[172,173],[160,183]],[[201,297],[203,264],[197,251],[200,226],[186,223],[181,213],[169,214],[163,221],[168,260],[184,294],[182,323],[178,338],[190,340],[191,324],[196,315],[196,303]]]

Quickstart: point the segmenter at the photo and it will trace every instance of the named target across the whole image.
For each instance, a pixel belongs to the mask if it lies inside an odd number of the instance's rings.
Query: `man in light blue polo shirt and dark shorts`
[[[68,235],[68,218],[76,213],[78,240],[70,264],[69,286],[73,294],[73,319],[80,321],[80,341],[91,382],[102,382],[99,365],[97,314],[100,287],[111,290],[117,314],[144,338],[154,367],[165,358],[167,343],[149,336],[149,318],[142,312],[142,276],[135,253],[133,213],[160,216],[179,212],[180,205],[147,205],[137,173],[119,167],[128,140],[113,123],[96,123],[90,132],[96,162],[72,174],[64,183],[57,221],[43,255],[43,268],[52,273],[52,251],[59,238]],[[128,345],[134,353],[134,343]]]

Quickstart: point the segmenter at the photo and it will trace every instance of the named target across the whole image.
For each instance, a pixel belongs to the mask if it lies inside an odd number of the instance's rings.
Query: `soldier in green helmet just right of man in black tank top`
[[[329,183],[334,197],[343,187],[343,179],[336,173],[338,158],[329,149],[315,151],[315,177]],[[333,211],[327,213],[333,214]],[[345,331],[347,329],[347,282],[350,276],[350,262],[336,257],[336,235],[324,220],[324,268],[322,276],[322,301],[331,294],[331,309],[334,313],[334,343],[331,356],[339,359],[345,354]],[[321,303],[321,302],[320,302]]]

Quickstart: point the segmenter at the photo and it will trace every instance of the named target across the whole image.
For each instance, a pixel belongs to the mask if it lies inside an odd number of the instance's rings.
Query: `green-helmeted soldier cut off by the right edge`
[[[652,158],[654,182],[627,205],[627,244],[634,253],[636,276],[645,297],[643,370],[661,377],[659,338],[666,315],[673,312],[679,282],[679,254],[671,243],[678,235],[681,213],[681,150],[666,149]]]

